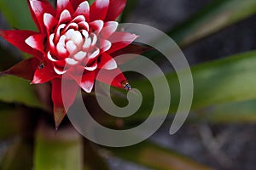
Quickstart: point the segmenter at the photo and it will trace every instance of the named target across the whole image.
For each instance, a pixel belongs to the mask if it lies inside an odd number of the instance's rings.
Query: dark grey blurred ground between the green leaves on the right
[[[212,0],[139,0],[139,5],[128,17],[129,22],[154,26],[168,31],[186,20],[191,14]],[[239,7],[237,7],[239,8]],[[256,16],[193,43],[183,49],[190,65],[223,58],[231,54],[256,48]],[[256,106],[255,106],[256,107]],[[194,113],[199,114],[199,113]],[[176,150],[213,169],[256,168],[256,125],[241,123],[216,124],[211,122],[186,122],[174,135],[168,135],[172,117],[166,121],[151,140],[166,148]],[[110,160],[115,169],[144,170],[145,167],[127,165],[119,159]]]

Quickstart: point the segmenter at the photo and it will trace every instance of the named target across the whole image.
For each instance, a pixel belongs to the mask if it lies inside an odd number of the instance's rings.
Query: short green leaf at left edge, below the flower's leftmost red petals
[[[28,81],[13,76],[0,77],[0,100],[44,108],[32,85]]]

